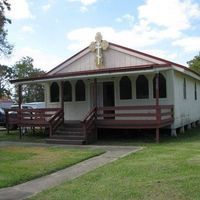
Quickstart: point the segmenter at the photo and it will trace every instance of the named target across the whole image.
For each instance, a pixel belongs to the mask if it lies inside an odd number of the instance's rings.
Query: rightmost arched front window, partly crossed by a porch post
[[[159,98],[167,97],[166,79],[159,73]],[[153,78],[153,97],[156,98],[156,75]]]

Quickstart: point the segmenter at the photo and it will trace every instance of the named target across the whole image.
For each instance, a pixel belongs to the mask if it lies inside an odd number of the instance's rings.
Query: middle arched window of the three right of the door
[[[149,83],[144,75],[139,75],[136,80],[136,98],[149,98]]]

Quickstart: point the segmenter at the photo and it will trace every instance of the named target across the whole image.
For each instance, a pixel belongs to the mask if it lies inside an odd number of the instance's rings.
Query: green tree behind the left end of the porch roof
[[[13,74],[15,79],[31,78],[44,74],[44,71],[34,68],[33,59],[31,57],[23,57],[13,66]],[[18,92],[14,95],[18,99]],[[22,95],[24,102],[44,101],[44,87],[41,84],[24,84],[22,87]]]

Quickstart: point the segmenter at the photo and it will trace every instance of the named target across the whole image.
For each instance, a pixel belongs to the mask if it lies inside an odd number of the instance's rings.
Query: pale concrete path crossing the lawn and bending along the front
[[[0,146],[16,145],[12,142],[1,142]],[[19,145],[19,143],[17,143]],[[20,145],[30,145],[30,143],[20,143]],[[31,144],[35,146],[49,146],[45,144]],[[51,145],[52,146],[52,145]],[[58,146],[58,145],[56,145]],[[95,146],[95,145],[84,145],[84,146],[64,146],[66,148],[100,148],[106,151],[106,153],[90,158],[76,165],[60,170],[53,174],[43,176],[41,178],[34,179],[32,181],[19,184],[13,187],[0,189],[0,200],[22,200],[35,195],[42,190],[54,187],[66,180],[75,179],[89,171],[92,171],[98,167],[101,167],[107,163],[111,163],[119,158],[122,158],[130,153],[141,150],[141,147],[133,146]]]

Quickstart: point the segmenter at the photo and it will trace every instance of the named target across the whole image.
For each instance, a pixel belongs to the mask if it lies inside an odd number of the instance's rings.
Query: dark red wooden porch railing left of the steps
[[[50,136],[56,128],[63,123],[64,113],[58,108],[44,109],[7,109],[6,125],[9,131],[10,126],[18,127],[47,127]]]

